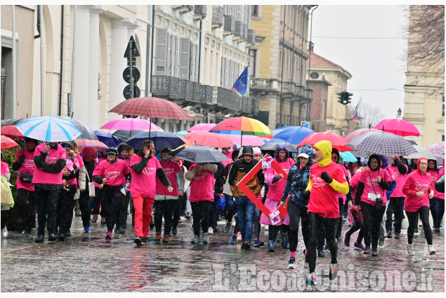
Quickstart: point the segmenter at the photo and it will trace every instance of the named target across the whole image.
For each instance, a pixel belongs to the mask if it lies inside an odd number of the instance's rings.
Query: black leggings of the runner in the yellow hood
[[[320,226],[322,223],[324,224],[327,244],[330,248],[330,253],[332,254],[332,264],[336,264],[338,257],[338,243],[335,241],[335,236],[339,219],[322,217],[313,212],[309,212],[308,222],[310,223],[310,235],[319,235]],[[316,245],[317,237],[310,237],[310,241],[308,241],[308,264],[310,266],[310,273],[314,272],[316,268]]]

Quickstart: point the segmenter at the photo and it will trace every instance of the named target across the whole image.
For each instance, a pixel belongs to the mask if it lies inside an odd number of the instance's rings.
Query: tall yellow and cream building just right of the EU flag
[[[312,6],[253,5],[256,42],[250,54],[250,94],[260,101],[258,120],[269,128],[308,119],[306,84],[308,15]]]

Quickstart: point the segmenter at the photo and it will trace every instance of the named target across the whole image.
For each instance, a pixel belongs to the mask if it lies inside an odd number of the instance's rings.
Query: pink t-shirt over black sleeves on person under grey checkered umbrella
[[[383,198],[383,205],[387,203],[386,189],[380,187],[378,182],[376,182],[378,175],[384,182],[392,181],[388,171],[381,168],[376,171],[363,170],[360,177],[360,182],[364,183],[364,191],[362,191],[361,201],[374,206],[376,205],[376,201],[372,201],[372,199],[376,199],[376,194],[381,195],[381,198]]]

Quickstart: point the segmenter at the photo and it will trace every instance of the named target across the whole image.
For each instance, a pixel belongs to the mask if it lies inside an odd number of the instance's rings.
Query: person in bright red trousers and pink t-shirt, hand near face
[[[167,187],[171,193],[173,187],[155,156],[155,144],[146,140],[141,145],[142,150],[130,158],[132,177],[132,200],[135,207],[135,243],[138,246],[147,243],[152,205],[155,201],[157,180]],[[108,219],[107,219],[108,221]]]

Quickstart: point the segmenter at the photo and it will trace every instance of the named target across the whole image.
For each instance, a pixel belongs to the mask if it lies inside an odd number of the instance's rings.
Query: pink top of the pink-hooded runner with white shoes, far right
[[[431,189],[431,174],[426,172],[421,175],[418,170],[412,171],[407,175],[405,188],[409,188],[411,194],[407,194],[404,201],[404,210],[407,212],[415,212],[423,206],[429,207],[429,189]],[[414,194],[417,191],[423,191],[424,196]]]

